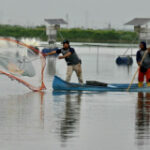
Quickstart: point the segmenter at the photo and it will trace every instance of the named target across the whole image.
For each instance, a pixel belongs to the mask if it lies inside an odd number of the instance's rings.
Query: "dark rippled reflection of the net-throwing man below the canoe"
[[[53,93],[55,96],[59,96],[59,98],[64,100],[65,96],[65,104],[64,111],[60,121],[59,127],[59,135],[63,144],[67,143],[67,140],[73,137],[76,137],[76,133],[78,130],[78,125],[80,122],[80,107],[81,107],[81,99],[82,92],[78,93],[62,93],[55,92]],[[63,97],[61,97],[63,96]],[[57,99],[57,98],[56,98]]]

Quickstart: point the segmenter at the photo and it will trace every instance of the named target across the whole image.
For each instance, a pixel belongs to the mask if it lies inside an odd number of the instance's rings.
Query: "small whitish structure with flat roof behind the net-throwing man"
[[[67,25],[68,23],[63,19],[45,19],[45,22],[47,23],[46,35],[48,36],[48,43],[55,43],[60,25]]]

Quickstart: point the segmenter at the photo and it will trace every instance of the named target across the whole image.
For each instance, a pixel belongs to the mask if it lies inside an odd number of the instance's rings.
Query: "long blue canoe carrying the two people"
[[[126,92],[129,84],[108,84],[104,86],[93,86],[78,83],[68,83],[58,76],[54,76],[53,89],[55,91],[99,91],[99,92]],[[150,87],[139,88],[137,84],[133,84],[129,92],[150,92]]]

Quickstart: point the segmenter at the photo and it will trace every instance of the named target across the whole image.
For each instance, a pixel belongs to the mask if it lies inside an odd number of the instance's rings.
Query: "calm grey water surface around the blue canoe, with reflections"
[[[129,83],[137,66],[117,66],[124,48],[77,47],[84,80]],[[99,57],[97,57],[99,56]],[[0,79],[2,150],[148,150],[150,96],[142,93],[53,92],[53,76],[65,78],[64,60],[47,62],[45,93]],[[72,81],[76,82],[73,74]]]

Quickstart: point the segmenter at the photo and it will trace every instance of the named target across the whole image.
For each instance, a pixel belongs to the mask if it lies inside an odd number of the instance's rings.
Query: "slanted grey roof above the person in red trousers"
[[[150,22],[150,18],[135,18],[127,22],[125,25],[141,26],[147,24],[148,22]]]

